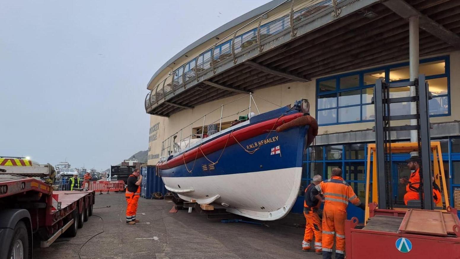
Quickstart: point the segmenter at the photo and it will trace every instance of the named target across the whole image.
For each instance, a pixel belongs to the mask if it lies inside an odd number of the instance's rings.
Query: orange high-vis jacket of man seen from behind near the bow
[[[322,192],[324,195],[324,206],[333,205],[346,208],[349,202],[356,206],[361,205],[361,200],[356,196],[353,188],[344,181],[342,177],[333,176],[316,185],[316,192]]]

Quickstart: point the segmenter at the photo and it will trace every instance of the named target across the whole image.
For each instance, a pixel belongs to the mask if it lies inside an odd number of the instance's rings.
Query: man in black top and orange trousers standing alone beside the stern
[[[139,177],[139,179],[138,179]],[[139,168],[134,169],[132,175],[128,177],[125,198],[127,202],[126,207],[126,224],[136,224],[139,222],[136,219],[136,212],[138,210],[138,200],[141,194],[142,176],[140,175]]]

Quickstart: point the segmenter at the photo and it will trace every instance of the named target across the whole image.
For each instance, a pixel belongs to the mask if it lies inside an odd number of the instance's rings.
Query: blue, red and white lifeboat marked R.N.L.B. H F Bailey
[[[164,148],[157,171],[165,188],[184,200],[213,203],[248,218],[283,218],[297,199],[303,153],[318,131],[308,112],[308,101],[300,100],[249,113],[221,131],[208,127],[209,136],[201,132],[202,139],[185,144],[181,139],[169,145],[173,149]]]

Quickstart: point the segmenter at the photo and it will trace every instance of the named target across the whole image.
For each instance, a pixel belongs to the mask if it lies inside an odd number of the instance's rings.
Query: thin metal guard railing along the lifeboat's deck
[[[243,95],[243,96],[241,96],[241,97],[239,97],[239,98],[237,98],[235,100],[232,100],[232,101],[230,101],[228,103],[222,104],[221,106],[215,108],[211,112],[208,112],[208,113],[204,114],[200,118],[198,118],[195,121],[193,121],[192,123],[188,124],[184,128],[178,130],[173,135],[170,135],[169,137],[167,137],[162,142],[162,145],[161,145],[161,158],[167,158],[169,155],[171,155],[173,153],[180,152],[182,149],[187,149],[187,148],[191,147],[192,145],[199,144],[202,140],[204,140],[207,137],[205,135],[205,133],[204,133],[204,129],[205,129],[206,125],[211,125],[211,124],[216,124],[217,125],[219,123],[219,126],[216,127],[215,132],[213,132],[213,134],[216,134],[216,133],[222,131],[222,122],[226,118],[234,117],[234,116],[239,115],[239,114],[241,114],[242,112],[245,112],[245,111],[248,111],[247,114],[249,116],[251,116],[251,110],[253,110],[253,107],[255,107],[255,110],[258,112],[258,114],[260,114],[259,107],[257,107],[257,104],[256,104],[256,102],[254,100],[254,96],[258,97],[258,98],[260,98],[262,100],[265,100],[264,98],[259,97],[257,95],[254,95],[252,93]],[[241,99],[243,99],[245,97],[249,97],[249,106],[246,106],[242,110],[239,110],[239,111],[237,111],[235,113],[232,113],[230,115],[225,115],[224,116],[224,107],[225,106],[228,106],[231,103],[236,102],[237,100],[241,100]],[[265,100],[265,101],[268,101],[268,100]],[[268,101],[268,102],[270,102],[270,101]],[[272,103],[272,102],[270,102],[270,103]],[[275,106],[279,106],[279,105],[277,105],[275,103],[272,103],[272,104],[275,105]],[[214,120],[214,121],[210,122],[209,118],[211,117],[210,115],[213,112],[220,112],[220,116],[219,116],[219,118],[217,120]],[[195,128],[195,130],[194,130],[194,127],[193,127],[194,124],[197,125],[196,123],[201,121],[201,120],[203,120],[203,123],[200,124],[201,127],[196,127],[198,129]],[[210,135],[213,135],[213,134],[210,134]],[[192,140],[196,139],[196,138],[193,138],[193,137],[197,137],[197,138],[199,138],[199,140],[194,142],[194,143],[192,143]],[[176,141],[177,138],[179,138],[178,141]]]

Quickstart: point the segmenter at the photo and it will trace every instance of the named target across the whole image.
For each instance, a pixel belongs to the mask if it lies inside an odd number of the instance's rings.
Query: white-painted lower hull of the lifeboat
[[[162,177],[183,200],[227,203],[228,212],[258,220],[283,218],[299,193],[302,167],[205,177]],[[180,187],[179,187],[180,186]],[[179,192],[178,192],[179,191]]]

